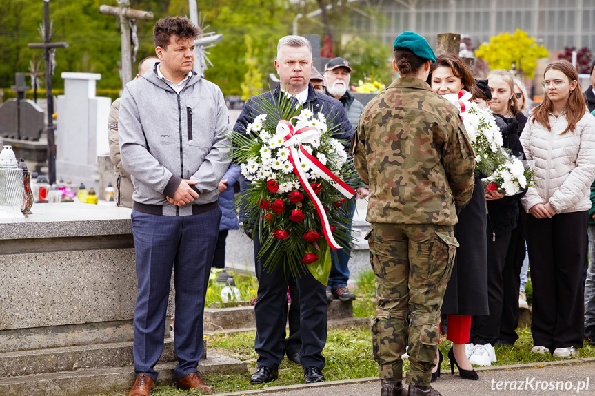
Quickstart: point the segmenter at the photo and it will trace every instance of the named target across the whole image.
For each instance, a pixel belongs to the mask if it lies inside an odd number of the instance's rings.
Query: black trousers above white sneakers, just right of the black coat
[[[473,344],[494,345],[500,333],[500,317],[504,303],[503,274],[510,232],[494,236],[488,221],[485,234],[487,237],[487,306],[490,309],[490,315],[472,317],[469,341]],[[518,287],[516,289],[518,290]]]

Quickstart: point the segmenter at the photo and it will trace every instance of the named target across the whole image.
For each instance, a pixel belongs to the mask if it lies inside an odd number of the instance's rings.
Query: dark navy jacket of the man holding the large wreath
[[[271,92],[265,92],[264,94],[252,96],[252,98],[248,99],[236,121],[236,124],[234,125],[234,131],[245,132],[245,126],[254,122],[254,119],[264,112],[262,109],[263,106],[259,105],[259,103],[262,103],[262,101],[268,101],[269,103],[272,103],[273,98],[276,101],[276,99],[279,98],[279,92],[281,92],[281,88],[280,85],[277,85],[276,89],[272,92],[272,96]],[[312,84],[309,84],[307,100],[303,104],[303,107],[312,109],[314,114],[323,112],[327,116],[327,120],[330,120],[328,122],[329,129],[335,125],[338,126],[334,137],[344,140],[344,143],[346,142],[345,152],[348,153],[351,138],[353,136],[353,128],[349,122],[349,118],[347,118],[347,114],[345,113],[341,102],[337,101],[332,96],[316,92],[314,87],[312,87]],[[248,188],[250,188],[250,181],[248,181],[248,179],[246,179],[244,176],[241,176],[241,194],[243,194]],[[252,234],[254,225],[245,224],[247,215],[248,213],[246,213],[246,211],[241,208],[239,220],[244,223],[244,229],[246,233],[250,235]]]

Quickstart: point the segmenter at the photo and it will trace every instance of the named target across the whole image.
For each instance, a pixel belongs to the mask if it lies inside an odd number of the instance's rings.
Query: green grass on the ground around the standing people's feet
[[[242,293],[255,293],[257,283],[254,277],[234,273],[236,284]],[[253,279],[254,278],[254,279]],[[215,292],[221,286],[213,287]],[[376,285],[374,281],[374,273],[371,270],[360,273],[355,279],[353,285],[350,285],[352,291],[357,296],[354,301],[354,316],[370,317],[374,315],[376,310],[375,291]],[[213,293],[215,294],[215,293]],[[529,295],[530,293],[527,293]],[[217,292],[216,295],[219,295]],[[210,304],[219,306],[221,298],[216,300],[213,297]],[[551,354],[539,355],[531,353],[533,347],[533,340],[529,329],[517,329],[518,341],[514,346],[502,346],[496,348],[496,357],[498,362],[492,366],[503,366],[510,364],[522,363],[536,363],[549,362],[552,360],[564,360],[552,357]],[[254,336],[255,332],[250,331],[246,333],[234,333],[230,335],[212,335],[208,336],[208,351],[209,353],[216,353],[220,355],[227,355],[239,359],[248,364],[251,372],[256,370],[256,358],[258,357],[254,352]],[[441,337],[440,350],[444,355],[444,360],[441,365],[442,371],[450,371],[450,362],[447,359],[447,352],[450,348],[445,336]],[[323,371],[327,381],[339,379],[356,379],[363,377],[376,377],[378,369],[376,362],[372,358],[372,337],[370,329],[367,326],[351,327],[350,329],[334,329],[328,332],[327,343],[323,351],[326,358],[326,367]],[[595,357],[595,347],[585,343],[581,349],[578,357]],[[572,359],[570,359],[572,361]],[[403,371],[409,369],[409,360],[403,360]],[[481,374],[480,374],[481,376]],[[243,375],[205,375],[205,382],[214,386],[214,393],[226,393],[240,390],[252,390],[263,388],[267,386],[283,386],[293,384],[303,384],[303,369],[296,364],[288,362],[284,359],[279,367],[279,379],[271,384],[251,385],[250,374]],[[127,395],[128,391],[123,393],[98,395],[98,396],[120,396]],[[174,396],[174,395],[207,395],[208,393],[201,393],[200,390],[192,390],[190,392],[185,390],[177,390],[172,386],[158,386],[151,393],[157,396]]]

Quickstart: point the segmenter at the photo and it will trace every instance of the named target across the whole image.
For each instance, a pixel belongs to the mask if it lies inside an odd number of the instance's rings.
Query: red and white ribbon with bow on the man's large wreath
[[[312,154],[306,151],[302,143],[312,143],[314,140],[319,139],[320,132],[314,127],[307,126],[301,117],[294,118],[297,119],[295,127],[292,125],[292,123],[290,123],[290,121],[279,121],[276,127],[276,134],[283,136],[283,140],[285,140],[285,147],[287,147],[290,151],[289,160],[294,167],[294,172],[298,177],[300,184],[307,192],[307,195],[310,196],[310,199],[312,202],[314,202],[314,207],[316,207],[316,211],[321,218],[322,229],[326,241],[328,242],[329,246],[332,247],[332,249],[341,249],[341,246],[339,246],[332,236],[330,223],[326,216],[322,202],[320,202],[319,198],[316,196],[316,193],[314,192],[314,189],[312,189],[312,186],[310,186],[310,183],[308,183],[307,176],[305,176],[305,172],[300,165],[302,162],[307,164],[308,167],[316,171],[317,175],[321,176],[325,180],[328,180],[335,189],[337,189],[347,198],[352,198],[355,194],[355,190],[349,187],[343,180],[333,174],[332,171],[322,165],[319,160],[314,158]]]

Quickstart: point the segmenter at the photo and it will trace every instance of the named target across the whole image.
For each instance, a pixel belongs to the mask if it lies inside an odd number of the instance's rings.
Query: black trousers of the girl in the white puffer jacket
[[[537,219],[523,213],[527,236],[536,346],[583,346],[583,263],[587,251],[587,211]]]

